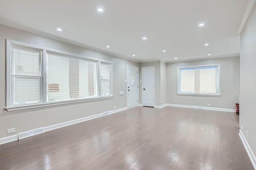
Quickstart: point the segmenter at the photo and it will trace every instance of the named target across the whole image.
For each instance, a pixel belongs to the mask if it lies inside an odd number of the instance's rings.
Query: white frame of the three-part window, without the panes
[[[12,69],[13,69],[13,54],[12,54],[12,47],[21,47],[21,48],[28,48],[28,49],[35,49],[36,51],[42,51],[40,56],[40,86],[41,86],[41,102],[36,104],[13,104],[13,81],[12,81]],[[47,53],[55,53],[58,55],[67,56],[74,59],[80,59],[84,61],[93,61],[97,63],[97,96],[90,97],[90,98],[80,98],[80,99],[70,99],[70,100],[62,100],[62,101],[54,101],[54,102],[47,102]],[[100,96],[100,62],[109,63],[110,64],[110,78],[111,78],[111,88],[110,88],[110,95],[109,96]],[[83,55],[77,55],[73,53],[68,53],[64,51],[59,51],[55,49],[50,49],[46,47],[41,47],[38,45],[32,45],[28,43],[23,43],[19,41],[9,40],[6,39],[6,107],[7,111],[13,110],[21,110],[21,109],[30,109],[36,107],[45,107],[45,106],[55,106],[60,104],[70,104],[70,103],[77,103],[77,102],[86,102],[86,101],[93,101],[93,100],[102,100],[113,98],[113,63],[110,61],[105,61],[101,59],[96,59],[92,57],[87,57]]]

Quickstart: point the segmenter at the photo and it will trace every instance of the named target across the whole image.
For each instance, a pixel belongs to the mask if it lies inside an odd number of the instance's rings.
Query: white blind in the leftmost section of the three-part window
[[[12,104],[36,104],[41,102],[40,56],[36,49],[12,48],[13,94]]]

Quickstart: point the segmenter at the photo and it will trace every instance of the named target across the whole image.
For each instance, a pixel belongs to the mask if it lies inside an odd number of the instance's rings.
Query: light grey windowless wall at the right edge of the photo
[[[256,155],[256,4],[244,25],[240,35],[240,69],[241,69],[241,95],[240,95],[240,125],[248,143]]]

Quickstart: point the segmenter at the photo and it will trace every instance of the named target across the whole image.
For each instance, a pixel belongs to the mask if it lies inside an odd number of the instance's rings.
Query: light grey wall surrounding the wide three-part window
[[[114,66],[114,98],[94,102],[80,102],[76,104],[64,104],[19,111],[6,111],[4,109],[4,107],[6,107],[6,39],[112,61]],[[126,83],[124,80],[126,79],[127,64],[139,66],[138,63],[133,61],[0,25],[0,138],[39,127],[103,113],[104,111],[113,110],[113,106],[116,106],[116,109],[126,107],[126,93],[124,93],[124,96],[120,96],[119,91],[126,92]],[[10,128],[16,128],[16,132],[6,134],[6,129]]]

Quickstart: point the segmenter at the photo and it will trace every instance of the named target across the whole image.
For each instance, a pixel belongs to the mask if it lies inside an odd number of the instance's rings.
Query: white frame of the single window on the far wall
[[[205,68],[205,67],[217,67],[217,93],[187,93],[180,92],[180,69],[184,68]],[[188,95],[188,96],[212,96],[219,97],[220,94],[220,64],[208,64],[199,66],[182,66],[177,68],[177,95]]]

